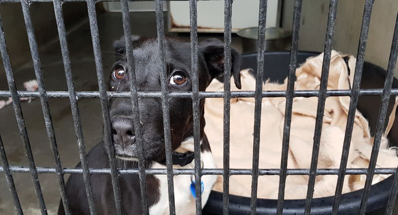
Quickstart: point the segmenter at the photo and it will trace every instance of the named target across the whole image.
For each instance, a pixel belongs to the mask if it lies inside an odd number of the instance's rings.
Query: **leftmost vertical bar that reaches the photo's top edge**
[[[43,72],[41,71],[40,56],[39,56],[39,52],[38,52],[36,36],[34,33],[34,28],[33,28],[32,20],[30,17],[30,7],[24,1],[21,1],[21,4],[22,4],[23,16],[25,19],[26,31],[28,33],[29,46],[30,46],[30,52],[32,55],[32,60],[33,60],[34,73],[36,76],[39,93],[40,93],[40,103],[41,103],[44,121],[45,121],[45,125],[46,125],[47,136],[48,136],[48,140],[50,142],[50,147],[51,147],[51,151],[52,151],[52,155],[53,155],[55,169],[57,172],[56,177],[57,177],[58,187],[59,187],[59,190],[61,193],[61,200],[62,200],[62,204],[65,208],[65,213],[67,215],[70,215],[70,210],[69,210],[69,206],[68,206],[68,198],[66,196],[66,191],[65,191],[65,181],[64,181],[64,176],[63,176],[63,170],[62,170],[61,160],[60,160],[59,152],[58,152],[57,140],[55,139],[55,132],[54,132],[54,127],[53,127],[53,123],[51,120],[51,114],[50,114],[50,107],[48,106],[47,91],[46,91],[45,85],[44,85]]]

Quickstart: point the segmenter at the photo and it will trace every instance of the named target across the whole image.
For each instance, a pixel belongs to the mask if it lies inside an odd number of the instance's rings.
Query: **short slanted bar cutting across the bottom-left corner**
[[[2,30],[1,30],[2,31]],[[1,45],[0,45],[1,46]],[[3,47],[1,46],[1,50]],[[8,190],[11,193],[12,200],[14,201],[14,208],[17,215],[23,215],[21,203],[19,202],[18,194],[15,189],[14,179],[12,178],[12,172],[9,169],[7,156],[5,155],[5,149],[0,136],[0,159],[4,170],[5,180],[8,184]]]

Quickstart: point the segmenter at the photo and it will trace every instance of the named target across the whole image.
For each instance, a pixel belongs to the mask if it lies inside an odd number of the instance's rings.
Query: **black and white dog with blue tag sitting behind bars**
[[[123,37],[124,38],[124,37]],[[161,61],[156,38],[133,36],[135,72],[138,91],[161,91]],[[113,65],[109,80],[110,91],[130,91],[125,41],[114,43],[117,61]],[[199,90],[204,91],[210,81],[223,74],[224,46],[216,39],[207,39],[199,43]],[[166,38],[165,53],[170,92],[192,90],[190,43],[173,38]],[[232,74],[235,84],[240,88],[240,56],[232,49]],[[165,143],[163,132],[162,101],[160,98],[141,98],[139,103],[141,139],[146,168],[165,168]],[[171,98],[170,123],[173,148],[173,167],[192,168],[193,110],[190,98]],[[200,156],[203,168],[215,168],[210,145],[204,129],[204,99],[200,100]],[[133,128],[133,113],[130,98],[112,98],[109,100],[112,136],[117,157],[117,167],[137,168],[137,147]],[[178,157],[182,157],[177,159]],[[97,144],[87,156],[90,168],[109,167],[108,156],[102,143]],[[78,164],[78,167],[81,165]],[[97,215],[114,215],[115,203],[110,175],[92,174],[93,197]],[[210,190],[216,181],[215,175],[202,177],[204,191],[202,206],[206,203]],[[168,187],[166,175],[147,175],[147,193],[150,215],[168,215]],[[177,215],[194,215],[195,198],[190,190],[190,175],[174,177],[175,203]],[[119,176],[120,196],[124,215],[142,215],[140,185],[138,175]],[[83,176],[72,174],[66,185],[69,207],[73,215],[90,215]],[[64,215],[60,204],[59,215]]]

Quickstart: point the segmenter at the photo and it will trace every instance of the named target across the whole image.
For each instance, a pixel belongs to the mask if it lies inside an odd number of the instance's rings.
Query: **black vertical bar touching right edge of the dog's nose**
[[[143,160],[143,147],[141,140],[141,123],[140,123],[140,112],[138,109],[138,93],[137,93],[137,82],[135,78],[135,66],[134,66],[134,50],[131,38],[131,27],[130,27],[130,13],[128,9],[128,0],[121,0],[122,20],[124,37],[126,41],[126,58],[127,58],[127,71],[129,72],[130,80],[130,97],[131,104],[134,114],[134,134],[138,152],[138,168],[139,168],[139,180],[140,180],[140,191],[141,191],[141,206],[142,213],[149,215],[147,190],[146,190],[146,175],[145,165]]]

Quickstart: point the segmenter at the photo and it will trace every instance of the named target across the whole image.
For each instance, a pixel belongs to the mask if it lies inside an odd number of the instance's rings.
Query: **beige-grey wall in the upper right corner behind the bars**
[[[292,28],[294,0],[285,0],[283,27]],[[339,0],[333,49],[356,55],[364,0]],[[299,50],[323,51],[329,0],[303,0]],[[397,0],[376,0],[373,5],[366,61],[387,68],[393,39]],[[398,77],[398,71],[396,70]]]

